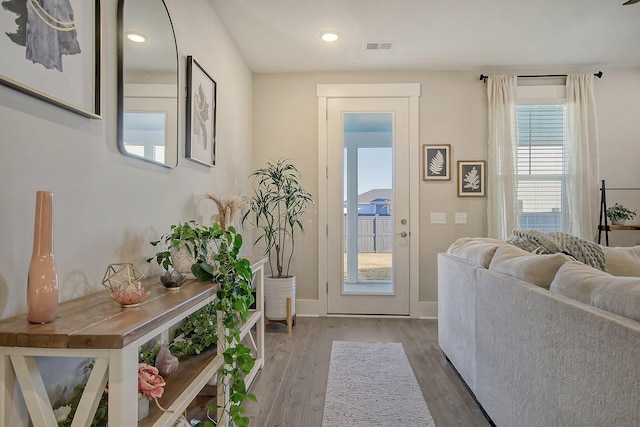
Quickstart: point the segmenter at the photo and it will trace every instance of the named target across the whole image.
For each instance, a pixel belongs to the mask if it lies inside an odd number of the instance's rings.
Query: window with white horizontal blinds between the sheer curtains
[[[563,231],[566,106],[518,105],[518,225]]]

